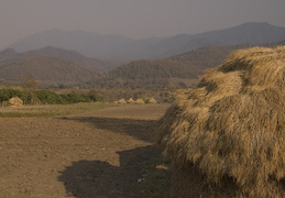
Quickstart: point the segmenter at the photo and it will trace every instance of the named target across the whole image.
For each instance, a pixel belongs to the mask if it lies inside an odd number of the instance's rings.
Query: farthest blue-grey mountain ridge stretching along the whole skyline
[[[51,45],[74,50],[97,58],[161,58],[207,45],[261,44],[285,40],[285,28],[268,23],[244,23],[234,28],[200,34],[132,40],[120,35],[100,35],[85,31],[50,30],[14,43],[18,52]]]

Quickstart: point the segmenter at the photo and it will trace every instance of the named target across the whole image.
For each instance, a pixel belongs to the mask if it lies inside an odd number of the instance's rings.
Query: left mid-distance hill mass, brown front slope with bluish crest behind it
[[[24,77],[33,77],[50,85],[85,84],[114,66],[110,61],[52,46],[24,53],[8,48],[0,52],[0,81],[20,82]]]

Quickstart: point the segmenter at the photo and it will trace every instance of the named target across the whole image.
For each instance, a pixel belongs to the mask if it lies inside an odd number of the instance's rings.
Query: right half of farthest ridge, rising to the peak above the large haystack
[[[268,23],[244,23],[200,34],[176,35],[152,46],[152,51],[166,57],[207,45],[262,44],[282,40],[285,40],[285,28]]]

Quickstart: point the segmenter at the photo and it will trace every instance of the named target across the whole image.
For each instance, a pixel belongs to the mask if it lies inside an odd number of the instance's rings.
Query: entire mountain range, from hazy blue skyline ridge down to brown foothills
[[[101,58],[86,56],[88,51],[86,54],[80,52],[80,46],[88,41],[90,48],[97,47],[90,52],[98,53]],[[285,28],[245,23],[195,35],[139,41],[118,35],[52,30],[0,52],[0,82],[19,84],[24,77],[34,77],[45,85],[185,88],[197,82],[205,69],[221,64],[231,51],[256,45],[285,45]],[[76,46],[78,48],[73,50]],[[132,59],[136,56],[140,58]]]

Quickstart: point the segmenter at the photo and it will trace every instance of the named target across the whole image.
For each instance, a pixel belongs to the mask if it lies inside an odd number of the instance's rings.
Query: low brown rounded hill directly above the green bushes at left
[[[0,63],[0,80],[21,82],[24,77],[33,77],[41,84],[84,84],[91,80],[96,73],[72,61],[37,56]]]

